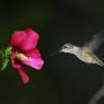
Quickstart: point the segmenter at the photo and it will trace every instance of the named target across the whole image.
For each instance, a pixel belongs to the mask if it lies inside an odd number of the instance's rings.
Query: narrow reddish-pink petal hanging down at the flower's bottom
[[[24,84],[28,83],[30,77],[25,73],[24,68],[18,69]]]

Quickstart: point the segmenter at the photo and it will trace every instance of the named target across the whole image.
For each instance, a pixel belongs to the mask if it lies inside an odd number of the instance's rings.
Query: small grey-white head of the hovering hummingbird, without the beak
[[[63,53],[72,53],[73,51],[73,45],[68,43],[68,44],[65,44],[61,48],[60,48],[60,51],[63,51]]]

